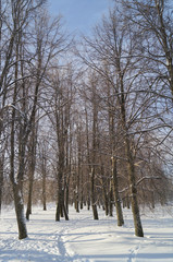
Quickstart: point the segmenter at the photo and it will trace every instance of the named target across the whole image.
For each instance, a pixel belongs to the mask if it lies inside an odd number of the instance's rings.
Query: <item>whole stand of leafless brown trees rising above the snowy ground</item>
[[[140,209],[173,200],[173,3],[114,1],[77,37],[47,5],[0,0],[0,210],[18,239],[48,203],[119,227],[127,209],[144,237]]]

